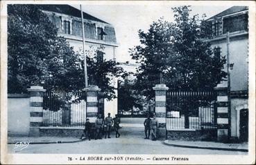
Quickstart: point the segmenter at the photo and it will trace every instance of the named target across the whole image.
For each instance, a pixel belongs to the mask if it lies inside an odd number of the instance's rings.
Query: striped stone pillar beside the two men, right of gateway
[[[169,88],[165,84],[156,84],[155,90],[155,117],[159,122],[158,137],[166,138],[167,133],[167,90]]]

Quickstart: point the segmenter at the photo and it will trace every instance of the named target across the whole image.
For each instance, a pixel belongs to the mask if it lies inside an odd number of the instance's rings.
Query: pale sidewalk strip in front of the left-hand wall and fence
[[[82,140],[76,137],[8,137],[8,144],[17,142],[29,142],[29,144],[58,144],[58,143],[75,143]]]

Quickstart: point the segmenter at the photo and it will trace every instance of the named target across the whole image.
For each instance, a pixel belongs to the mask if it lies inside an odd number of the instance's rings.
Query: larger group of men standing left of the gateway
[[[105,120],[104,120],[101,117],[101,114],[99,114],[95,121],[94,139],[102,139],[101,137],[102,134],[105,135],[105,138],[107,138],[107,134],[108,134],[108,138],[111,138],[110,131],[113,124],[114,124],[114,130],[116,132],[116,137],[120,137],[119,123],[120,123],[120,119],[118,115],[116,115],[114,119],[112,119],[112,117],[110,117],[110,113],[108,113],[108,117],[105,117]],[[91,136],[92,136],[92,124],[89,122],[89,119],[86,119],[85,130],[82,136],[80,137],[80,139],[82,139],[83,137],[88,137],[88,139],[91,140]]]

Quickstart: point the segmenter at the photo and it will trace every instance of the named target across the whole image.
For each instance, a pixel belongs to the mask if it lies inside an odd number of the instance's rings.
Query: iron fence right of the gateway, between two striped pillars
[[[215,102],[214,91],[167,92],[167,130],[215,129]]]

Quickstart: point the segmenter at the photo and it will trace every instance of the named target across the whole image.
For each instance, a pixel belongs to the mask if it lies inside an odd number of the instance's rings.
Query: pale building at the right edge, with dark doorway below
[[[248,7],[233,6],[207,19],[214,37],[214,55],[227,57],[230,33],[231,137],[248,140]],[[224,68],[227,69],[226,66]]]

